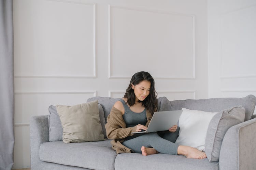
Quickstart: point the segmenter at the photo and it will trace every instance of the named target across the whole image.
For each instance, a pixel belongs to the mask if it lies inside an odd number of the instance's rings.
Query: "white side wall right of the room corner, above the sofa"
[[[209,98],[256,96],[256,0],[208,0]]]

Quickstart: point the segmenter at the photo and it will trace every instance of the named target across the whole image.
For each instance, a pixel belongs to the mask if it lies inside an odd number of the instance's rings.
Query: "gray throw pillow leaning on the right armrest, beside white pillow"
[[[244,122],[244,117],[245,109],[241,105],[224,109],[214,115],[209,123],[205,138],[205,154],[210,162],[219,160],[224,135],[231,126]]]

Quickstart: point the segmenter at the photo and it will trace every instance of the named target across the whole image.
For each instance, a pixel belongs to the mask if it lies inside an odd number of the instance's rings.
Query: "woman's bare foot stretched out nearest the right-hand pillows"
[[[204,159],[206,154],[196,148],[180,145],[177,150],[178,155],[184,155],[187,158]]]

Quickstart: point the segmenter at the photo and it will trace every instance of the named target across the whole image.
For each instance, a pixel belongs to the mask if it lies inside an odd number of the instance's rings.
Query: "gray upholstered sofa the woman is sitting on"
[[[105,134],[105,120],[118,99],[93,97],[87,100],[99,101],[102,130]],[[49,141],[48,115],[32,116],[30,120],[31,170],[66,169],[173,169],[173,170],[247,170],[256,167],[256,118],[252,116],[256,98],[213,98],[200,100],[168,101],[159,98],[159,110],[180,110],[183,107],[207,112],[242,105],[245,108],[245,122],[234,125],[226,132],[219,161],[189,159],[182,155],[155,154],[142,156],[139,153],[116,154],[109,139],[96,142],[63,143]],[[61,135],[61,134],[60,134]]]

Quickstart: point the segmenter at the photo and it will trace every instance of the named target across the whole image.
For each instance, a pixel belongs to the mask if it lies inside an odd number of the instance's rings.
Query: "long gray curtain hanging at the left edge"
[[[0,0],[0,169],[13,166],[14,63],[12,0]]]

